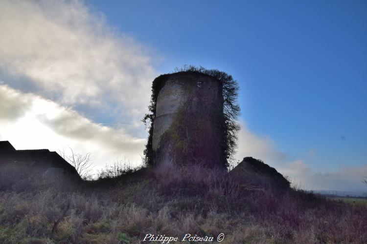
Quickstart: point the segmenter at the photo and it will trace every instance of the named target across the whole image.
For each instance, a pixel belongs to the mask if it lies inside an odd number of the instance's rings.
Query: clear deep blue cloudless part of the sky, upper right
[[[315,169],[367,163],[366,1],[89,1],[163,59],[231,74],[242,118]]]

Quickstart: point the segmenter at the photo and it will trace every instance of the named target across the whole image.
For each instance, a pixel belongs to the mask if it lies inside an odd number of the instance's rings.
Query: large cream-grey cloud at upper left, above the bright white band
[[[80,1],[1,1],[4,82],[63,105],[138,123],[156,74],[146,53]]]

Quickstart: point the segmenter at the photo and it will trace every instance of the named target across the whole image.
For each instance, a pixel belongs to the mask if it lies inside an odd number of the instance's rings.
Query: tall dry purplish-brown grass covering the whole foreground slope
[[[364,206],[295,189],[243,190],[200,165],[76,184],[0,173],[0,243],[140,243],[148,233],[224,233],[228,244],[362,244],[366,230]]]

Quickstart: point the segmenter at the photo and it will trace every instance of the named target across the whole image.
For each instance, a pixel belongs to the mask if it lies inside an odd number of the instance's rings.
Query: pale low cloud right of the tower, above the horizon
[[[362,183],[367,176],[367,165],[348,166],[337,168],[332,172],[318,172],[304,163],[304,160],[291,160],[285,153],[275,148],[275,143],[270,138],[261,138],[252,133],[244,122],[241,123],[236,159],[242,161],[243,157],[261,159],[277,171],[288,176],[296,187],[310,190],[344,190],[366,191]],[[314,156],[315,149],[308,155]]]

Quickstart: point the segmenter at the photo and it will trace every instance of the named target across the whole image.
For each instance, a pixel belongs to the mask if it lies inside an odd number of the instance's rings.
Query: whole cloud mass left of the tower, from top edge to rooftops
[[[140,163],[140,119],[156,76],[147,53],[83,1],[2,0],[0,140],[92,152],[97,166],[125,157]]]

